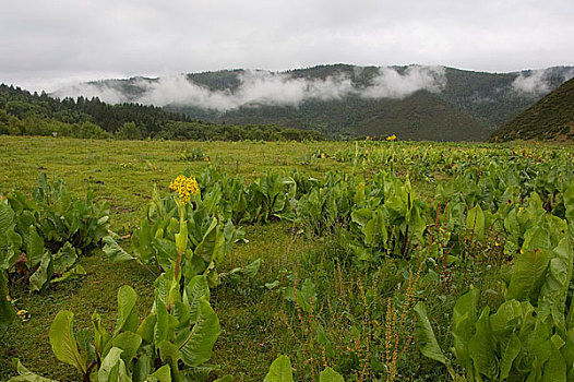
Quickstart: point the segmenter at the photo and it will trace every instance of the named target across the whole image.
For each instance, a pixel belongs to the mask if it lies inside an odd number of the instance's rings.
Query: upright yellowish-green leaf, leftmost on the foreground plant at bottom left
[[[58,360],[75,367],[85,374],[86,358],[77,351],[73,333],[74,313],[61,310],[50,325],[49,337],[53,354]]]

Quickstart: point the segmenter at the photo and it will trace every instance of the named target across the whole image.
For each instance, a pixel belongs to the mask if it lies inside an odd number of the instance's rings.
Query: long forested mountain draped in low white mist
[[[276,123],[331,138],[397,134],[406,140],[479,141],[572,76],[574,67],[483,73],[334,64],[106,80],[56,95],[99,95],[212,122]]]

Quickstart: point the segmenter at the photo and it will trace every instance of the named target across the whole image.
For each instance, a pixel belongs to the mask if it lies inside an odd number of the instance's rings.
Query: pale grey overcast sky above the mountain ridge
[[[507,72],[574,64],[572,0],[15,0],[0,4],[0,82],[323,63]]]

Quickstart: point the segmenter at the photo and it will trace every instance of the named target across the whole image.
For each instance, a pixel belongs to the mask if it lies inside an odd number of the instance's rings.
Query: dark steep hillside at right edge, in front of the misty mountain
[[[574,141],[574,79],[497,130],[491,142],[512,140]]]

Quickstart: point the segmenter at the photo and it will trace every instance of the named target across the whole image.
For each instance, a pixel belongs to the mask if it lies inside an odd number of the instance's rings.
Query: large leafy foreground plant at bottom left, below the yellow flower
[[[201,381],[212,370],[205,366],[219,336],[219,320],[210,306],[205,276],[195,276],[180,293],[175,275],[162,274],[155,282],[155,302],[140,323],[136,294],[123,286],[118,290],[118,314],[113,332],[101,318],[92,315],[93,331],[74,333],[70,311],[56,315],[49,331],[58,360],[71,365],[84,381]],[[22,377],[34,381],[19,367]],[[23,379],[26,377],[25,379]]]

